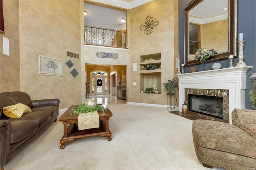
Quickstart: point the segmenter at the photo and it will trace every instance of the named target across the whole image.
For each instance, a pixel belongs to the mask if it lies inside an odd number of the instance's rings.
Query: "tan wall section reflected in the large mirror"
[[[228,19],[201,26],[201,47],[228,51]]]

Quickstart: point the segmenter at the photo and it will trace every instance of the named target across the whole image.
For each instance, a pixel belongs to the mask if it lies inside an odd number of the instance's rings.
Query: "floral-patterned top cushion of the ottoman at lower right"
[[[192,129],[199,146],[256,158],[256,139],[234,125],[195,120]]]

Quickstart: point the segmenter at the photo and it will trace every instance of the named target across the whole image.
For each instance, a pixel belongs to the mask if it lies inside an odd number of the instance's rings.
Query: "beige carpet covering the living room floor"
[[[209,170],[196,158],[192,121],[161,107],[109,105],[112,141],[75,139],[60,150],[56,122],[5,170]],[[218,169],[218,168],[214,168]]]

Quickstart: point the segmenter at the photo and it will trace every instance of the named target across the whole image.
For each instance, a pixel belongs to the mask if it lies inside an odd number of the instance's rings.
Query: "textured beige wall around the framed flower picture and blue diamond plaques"
[[[81,103],[80,0],[21,0],[20,90],[34,99],[60,99],[60,109]],[[66,56],[66,51],[80,59]],[[63,76],[38,75],[38,55],[63,61]],[[69,69],[66,62],[74,66]],[[78,76],[70,74],[76,68]],[[84,72],[84,71],[83,71]],[[85,97],[85,96],[84,96]]]

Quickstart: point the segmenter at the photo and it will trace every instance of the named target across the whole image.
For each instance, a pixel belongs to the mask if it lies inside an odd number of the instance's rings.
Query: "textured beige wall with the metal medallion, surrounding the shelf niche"
[[[161,11],[161,12],[160,12]],[[148,36],[140,30],[141,24],[150,15],[159,21],[158,26]],[[130,59],[132,63],[140,64],[140,55],[161,53],[162,76],[161,84],[174,78],[174,67],[178,55],[178,2],[154,0],[142,6],[129,10],[128,23],[130,27]],[[136,85],[133,85],[136,82]],[[131,71],[131,81],[128,85],[128,102],[152,103],[166,105],[166,93],[163,86],[161,94],[140,93],[140,71]]]

